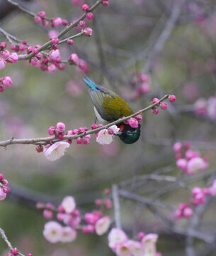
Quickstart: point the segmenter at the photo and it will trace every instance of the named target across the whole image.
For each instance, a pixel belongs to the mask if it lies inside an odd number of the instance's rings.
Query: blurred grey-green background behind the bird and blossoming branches
[[[49,17],[60,16],[69,21],[82,14],[81,7],[69,0],[19,2],[35,13],[45,10]],[[86,1],[89,5],[94,2]],[[170,206],[155,206],[156,210],[152,210],[149,205],[120,198],[121,222],[131,238],[141,230],[159,233],[157,249],[162,255],[191,256],[186,250],[188,235],[175,233],[172,226],[161,219],[161,214],[166,220],[172,220],[173,209],[188,201],[190,189],[209,186],[216,174],[216,107],[210,106],[215,111],[211,117],[194,112],[194,103],[200,97],[208,99],[216,92],[215,7],[215,1],[210,0],[190,0],[182,4],[161,0],[110,0],[108,7],[99,6],[94,11],[93,21],[86,21],[93,29],[91,38],[83,36],[74,39],[74,46],[60,46],[62,58],[67,60],[71,53],[77,53],[88,65],[89,78],[124,97],[135,111],[147,107],[153,97],[167,93],[176,95],[177,100],[157,115],[151,111],[144,114],[142,135],[135,144],[125,145],[115,138],[109,146],[101,146],[92,137],[88,146],[73,142],[67,154],[55,162],[38,154],[33,145],[1,148],[0,172],[8,179],[11,193],[1,201],[0,227],[21,252],[52,256],[113,255],[107,235],[79,233],[70,244],[51,245],[42,236],[46,220],[35,208],[35,202],[57,205],[64,196],[71,195],[84,213],[93,210],[93,203],[103,197],[104,188],[116,183],[125,191]],[[6,0],[0,1],[0,10],[1,28],[8,33],[27,40],[32,46],[48,41],[50,28],[36,24],[32,17]],[[174,11],[179,14],[171,19]],[[170,31],[167,26],[172,26]],[[61,31],[62,28],[55,29]],[[160,41],[165,32],[169,34]],[[68,35],[75,33],[77,29]],[[2,34],[0,39],[6,41]],[[147,93],[137,93],[139,73],[149,75]],[[81,72],[74,65],[68,65],[64,71],[47,73],[30,66],[28,60],[19,61],[0,71],[1,77],[6,75],[11,76],[13,85],[0,95],[1,140],[45,137],[48,127],[57,122],[64,122],[67,129],[90,128],[94,122],[90,97]],[[194,178],[185,176],[176,167],[172,149],[178,141],[190,141],[193,149],[208,157],[209,168]],[[178,182],[145,178],[152,173],[176,177]],[[181,180],[186,186],[181,186]],[[113,208],[107,213],[113,218]],[[197,228],[215,236],[215,224],[212,198]],[[174,225],[186,232],[191,224],[190,220],[180,220]],[[214,242],[195,238],[193,246],[200,255],[215,255]],[[0,240],[0,254],[6,255],[6,252],[6,244]]]

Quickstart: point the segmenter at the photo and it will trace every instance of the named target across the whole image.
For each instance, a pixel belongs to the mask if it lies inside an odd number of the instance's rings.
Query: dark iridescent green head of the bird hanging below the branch
[[[135,143],[140,138],[140,127],[140,124],[137,129],[130,127],[129,124],[125,124],[118,137],[125,144]]]

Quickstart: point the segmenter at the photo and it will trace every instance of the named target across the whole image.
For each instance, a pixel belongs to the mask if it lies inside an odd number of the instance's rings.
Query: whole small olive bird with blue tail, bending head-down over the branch
[[[101,85],[96,85],[90,78],[86,77],[83,80],[89,87],[93,110],[99,122],[114,122],[121,117],[133,114],[128,103],[115,92]],[[118,128],[120,128],[120,131],[117,135],[125,144],[135,143],[140,138],[140,124],[137,128],[132,128],[129,124],[120,123]]]

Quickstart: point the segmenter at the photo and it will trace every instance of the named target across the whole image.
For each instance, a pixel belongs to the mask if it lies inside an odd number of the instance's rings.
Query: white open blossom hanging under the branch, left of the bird
[[[64,151],[70,146],[67,142],[55,142],[48,148],[44,148],[43,154],[46,159],[55,161],[64,156]]]

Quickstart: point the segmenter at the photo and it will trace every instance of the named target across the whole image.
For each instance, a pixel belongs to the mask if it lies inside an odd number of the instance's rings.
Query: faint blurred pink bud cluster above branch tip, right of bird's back
[[[132,73],[131,85],[135,88],[132,97],[136,100],[141,95],[149,92],[149,76],[144,73],[134,72]]]

